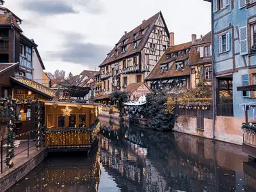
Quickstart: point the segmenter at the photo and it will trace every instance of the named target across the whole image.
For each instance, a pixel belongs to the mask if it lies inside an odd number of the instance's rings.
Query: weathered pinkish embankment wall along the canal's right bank
[[[226,116],[217,116],[215,121],[215,139],[242,145],[242,123],[244,118],[234,118]],[[249,120],[249,122],[255,122]],[[196,118],[188,116],[178,116],[173,130],[190,135],[196,135],[213,139],[213,120],[205,118],[204,128],[197,127]]]

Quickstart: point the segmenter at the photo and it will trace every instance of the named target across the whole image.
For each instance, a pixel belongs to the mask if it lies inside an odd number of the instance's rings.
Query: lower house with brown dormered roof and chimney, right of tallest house
[[[174,34],[167,51],[146,78],[150,89],[190,88],[190,66],[188,64],[192,42],[174,45]]]

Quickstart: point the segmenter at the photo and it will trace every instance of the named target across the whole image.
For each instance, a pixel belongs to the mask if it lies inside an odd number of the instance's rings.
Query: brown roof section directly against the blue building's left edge
[[[192,45],[194,49],[191,49],[190,53],[190,66],[194,66],[196,64],[209,64],[211,63],[211,57],[200,57],[200,52],[196,50],[196,47],[200,47],[204,45],[211,45],[211,32],[205,34],[201,39],[196,40],[196,42]]]

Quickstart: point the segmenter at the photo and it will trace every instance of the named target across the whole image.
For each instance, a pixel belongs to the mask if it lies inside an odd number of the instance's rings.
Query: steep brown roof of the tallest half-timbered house
[[[123,37],[121,37],[118,43],[116,43],[116,46],[114,46],[114,48],[110,51],[110,53],[108,53],[106,59],[104,59],[104,61],[102,62],[102,64],[100,64],[100,66],[110,64],[119,59],[122,59],[129,55],[133,55],[134,53],[142,51],[146,42],[148,41],[148,37],[150,36],[150,33],[154,27],[154,23],[156,22],[158,16],[162,17],[163,22],[165,24],[165,20],[163,18],[163,14],[161,13],[161,11],[159,11],[157,14],[155,14],[148,20],[144,20],[142,24],[140,24],[130,32],[127,32],[127,34],[124,34]],[[166,26],[166,30],[167,30],[167,34],[169,34],[167,26]],[[142,34],[142,31],[144,31],[143,34]],[[134,34],[136,34],[136,39],[133,38]],[[133,49],[134,41],[137,41],[137,47],[135,49]],[[122,47],[124,46],[126,46],[127,50],[125,53],[122,53]],[[117,55],[116,55],[116,51],[117,51]]]

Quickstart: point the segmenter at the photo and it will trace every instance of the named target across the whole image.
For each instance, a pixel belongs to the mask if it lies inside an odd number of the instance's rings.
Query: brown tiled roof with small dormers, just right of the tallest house
[[[185,66],[184,70],[176,70],[175,62],[181,62],[188,59],[190,55],[190,51],[188,51],[188,49],[190,49],[191,45],[192,43],[190,41],[188,43],[182,43],[169,47],[162,55],[162,57],[158,60],[156,66],[154,66],[154,69],[147,76],[146,80],[189,75],[190,66]],[[179,54],[177,57],[175,57],[173,53],[179,53],[179,51],[186,51],[186,53],[184,55]],[[167,59],[168,54],[170,54],[169,59]],[[169,70],[167,72],[161,72],[161,64],[169,64]]]

